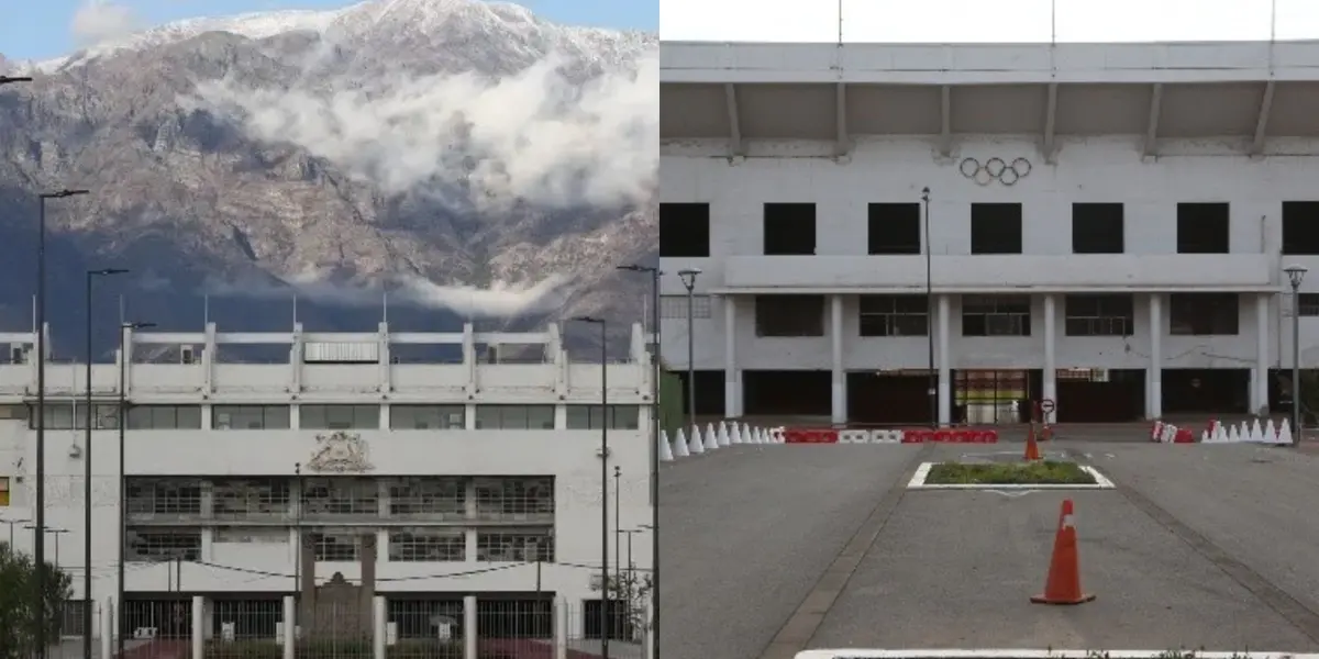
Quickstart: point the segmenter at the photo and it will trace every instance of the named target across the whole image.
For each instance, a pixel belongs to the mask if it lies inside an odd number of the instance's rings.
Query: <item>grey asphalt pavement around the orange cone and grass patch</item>
[[[1017,448],[1004,444],[733,447],[666,464],[665,656],[762,659],[776,635],[811,648],[1319,651],[1319,455],[1078,435],[1046,449],[1088,455],[1119,490],[900,488],[922,460]],[[1099,598],[1030,605],[1064,496]],[[849,540],[855,560],[835,564]],[[831,564],[836,598],[815,592],[794,617]]]

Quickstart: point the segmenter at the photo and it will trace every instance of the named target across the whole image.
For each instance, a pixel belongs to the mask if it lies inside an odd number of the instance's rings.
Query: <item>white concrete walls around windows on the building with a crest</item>
[[[633,328],[629,362],[609,364],[609,406],[636,410],[629,428],[611,430],[608,469],[609,525],[613,532],[615,497],[619,497],[620,527],[624,530],[649,525],[650,473],[650,366],[645,353],[644,333]],[[33,335],[3,335],[0,343],[30,347]],[[289,364],[228,364],[223,356],[227,344],[289,344]],[[462,364],[397,364],[390,360],[390,345],[460,344]],[[318,347],[311,351],[313,344]],[[357,353],[372,353],[371,364],[305,364],[303,355],[313,352],[353,352],[335,349],[332,344],[351,344]],[[541,345],[541,362],[481,362],[479,345]],[[458,529],[466,538],[466,560],[462,561],[393,561],[389,558],[388,534],[396,526],[427,526],[427,521],[389,519],[388,482],[380,485],[380,514],[343,522],[365,529],[379,536],[377,590],[388,596],[400,592],[530,592],[542,589],[580,602],[598,598],[591,589],[592,576],[600,564],[601,464],[600,430],[571,430],[574,407],[599,409],[600,364],[570,362],[551,327],[543,333],[476,333],[471,326],[454,333],[389,333],[385,324],[375,333],[310,333],[297,327],[284,333],[223,333],[214,324],[204,332],[129,333],[129,347],[142,349],[161,345],[195,347],[193,364],[135,362],[132,349],[127,361],[127,398],[136,406],[183,406],[199,409],[199,427],[125,430],[125,474],[136,477],[262,477],[293,478],[295,465],[303,477],[363,476],[386,481],[400,476],[455,477],[554,477],[554,560],[543,564],[528,561],[483,561],[476,558],[476,534],[488,526],[474,518],[474,496],[467,493],[468,517],[447,527]],[[367,347],[368,349],[363,349]],[[34,356],[34,352],[29,357]],[[47,406],[79,405],[84,395],[84,365],[49,364],[46,370]],[[92,365],[92,390],[98,403],[111,406],[117,401],[117,364]],[[0,365],[0,410],[5,415],[22,415],[36,394],[36,360]],[[278,430],[222,428],[215,410],[230,405],[288,406],[288,422]],[[359,405],[379,406],[379,427],[352,427],[346,432],[360,439],[369,451],[369,468],[360,473],[315,473],[311,469],[326,435],[332,430],[299,427],[299,409],[309,406]],[[390,430],[390,409],[404,405],[454,406],[463,410],[463,420],[454,430]],[[476,419],[484,406],[549,406],[553,430],[477,428]],[[543,407],[541,407],[543,409]],[[132,419],[132,416],[131,416]],[[580,426],[580,424],[578,424]],[[598,428],[598,426],[595,427]],[[94,430],[92,460],[92,597],[106,601],[116,592],[119,532],[119,431],[111,424]],[[26,419],[0,420],[0,480],[9,485],[9,505],[0,507],[0,542],[8,542],[5,521],[33,519],[36,431]],[[82,597],[83,552],[83,469],[87,445],[83,430],[46,430],[46,525],[66,530],[59,536],[59,563],[74,575],[75,597]],[[615,488],[613,467],[621,468]],[[294,486],[295,488],[295,486]],[[471,485],[468,485],[471,488]],[[170,563],[135,561],[127,564],[125,590],[165,592],[171,587],[191,593],[289,593],[295,590],[298,569],[297,526],[332,530],[335,522],[301,517],[295,507],[299,497],[293,493],[289,510],[268,519],[219,521],[211,518],[208,490],[202,490],[202,514],[156,515],[146,526],[168,525],[200,527],[199,560],[185,560],[181,568]],[[150,517],[150,515],[148,515]],[[171,519],[177,518],[177,523]],[[140,526],[131,517],[129,526]],[[541,523],[546,522],[541,519]],[[483,526],[483,523],[485,526]],[[526,523],[533,526],[534,522]],[[504,527],[517,526],[503,523]],[[286,538],[276,542],[216,542],[224,527],[280,529]],[[497,529],[495,529],[497,530]],[[32,550],[33,531],[24,525],[15,527],[15,544],[20,551]],[[278,535],[278,534],[276,534]],[[54,540],[46,542],[47,560],[54,561]],[[609,539],[611,554],[615,538]],[[633,563],[648,569],[650,542],[638,535],[632,548]],[[611,555],[609,564],[616,556]],[[596,565],[596,569],[591,569]],[[501,568],[484,573],[485,568]],[[171,573],[181,569],[181,575]],[[359,565],[348,561],[317,561],[319,580],[342,572],[353,580]],[[446,579],[446,575],[464,575]],[[177,583],[175,583],[177,579]]]

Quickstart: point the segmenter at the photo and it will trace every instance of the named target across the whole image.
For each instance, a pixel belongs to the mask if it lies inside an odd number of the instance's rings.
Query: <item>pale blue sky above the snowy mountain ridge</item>
[[[44,59],[78,47],[70,25],[87,0],[0,0],[12,7],[0,20],[0,54],[12,59]],[[555,22],[654,32],[658,0],[516,0]],[[324,9],[353,0],[119,0],[145,25],[195,16],[224,16],[270,9]]]

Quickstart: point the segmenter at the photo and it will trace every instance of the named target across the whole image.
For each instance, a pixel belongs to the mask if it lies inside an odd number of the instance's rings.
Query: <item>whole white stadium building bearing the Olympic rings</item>
[[[691,335],[666,278],[662,355],[691,343],[700,414],[1290,405],[1319,43],[665,42],[661,103],[662,268],[700,270]]]

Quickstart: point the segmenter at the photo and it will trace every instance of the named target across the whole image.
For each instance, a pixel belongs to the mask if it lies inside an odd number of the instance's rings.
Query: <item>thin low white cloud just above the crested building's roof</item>
[[[397,275],[376,283],[340,283],[322,270],[307,270],[278,281],[210,281],[202,293],[249,299],[306,299],[347,307],[408,306],[446,308],[470,318],[513,318],[562,307],[571,295],[571,282],[549,277],[534,285],[495,282],[487,289],[445,286],[422,277]],[[388,295],[388,298],[386,298]]]

